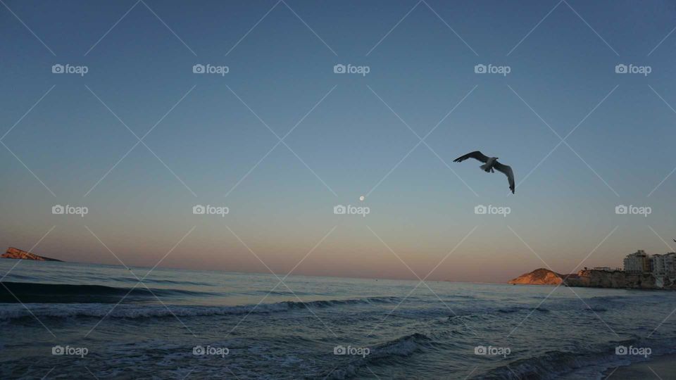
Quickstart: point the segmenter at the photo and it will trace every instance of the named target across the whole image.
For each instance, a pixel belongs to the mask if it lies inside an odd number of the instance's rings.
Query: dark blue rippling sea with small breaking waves
[[[0,260],[0,377],[600,379],[676,348],[676,292],[149,270]]]

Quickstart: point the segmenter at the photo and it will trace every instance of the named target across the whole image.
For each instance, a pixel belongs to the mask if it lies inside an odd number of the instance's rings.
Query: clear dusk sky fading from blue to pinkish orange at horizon
[[[0,247],[487,282],[674,251],[675,16],[668,1],[4,0]],[[513,167],[514,195],[453,163],[474,150]]]

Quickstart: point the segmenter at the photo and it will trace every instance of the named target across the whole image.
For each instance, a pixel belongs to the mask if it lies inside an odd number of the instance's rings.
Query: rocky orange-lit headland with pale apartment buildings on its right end
[[[508,281],[514,285],[559,285],[593,288],[676,290],[676,253],[628,254],[623,267],[592,267],[572,274],[540,268]]]

